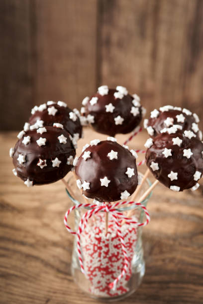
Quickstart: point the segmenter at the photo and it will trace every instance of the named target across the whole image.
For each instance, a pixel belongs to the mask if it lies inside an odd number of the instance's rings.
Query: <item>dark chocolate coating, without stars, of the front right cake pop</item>
[[[181,146],[174,145],[172,139],[179,137],[183,142]],[[167,158],[162,153],[164,149],[171,149],[172,156]],[[190,158],[183,156],[184,149],[191,149],[193,155]],[[180,187],[180,191],[192,188],[197,184],[194,180],[196,171],[203,173],[203,143],[193,137],[191,140],[184,136],[182,132],[176,134],[163,133],[153,139],[153,145],[146,152],[147,166],[162,184]],[[153,171],[150,165],[152,161],[158,163],[159,169]],[[168,174],[177,172],[178,179],[171,180]]]

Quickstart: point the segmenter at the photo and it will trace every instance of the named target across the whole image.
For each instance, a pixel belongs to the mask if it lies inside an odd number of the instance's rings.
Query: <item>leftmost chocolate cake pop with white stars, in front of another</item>
[[[10,149],[13,173],[27,187],[63,178],[73,168],[75,154],[70,134],[56,125],[21,131],[15,148]]]

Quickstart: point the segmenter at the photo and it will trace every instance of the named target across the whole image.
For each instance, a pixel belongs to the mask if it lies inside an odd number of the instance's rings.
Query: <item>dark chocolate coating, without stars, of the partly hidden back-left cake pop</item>
[[[55,115],[49,115],[47,108],[54,107],[57,109]],[[63,107],[56,104],[47,105],[47,108],[43,111],[36,111],[33,115],[29,118],[30,125],[34,125],[37,120],[43,120],[44,126],[53,126],[53,123],[60,123],[64,126],[64,129],[68,131],[71,136],[78,133],[79,138],[82,136],[82,126],[80,123],[80,119],[77,116],[77,120],[73,121],[70,119],[69,113],[73,112],[68,107]]]

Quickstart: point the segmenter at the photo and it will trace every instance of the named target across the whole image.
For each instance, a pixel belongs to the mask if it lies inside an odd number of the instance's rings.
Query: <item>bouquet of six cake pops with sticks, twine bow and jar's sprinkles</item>
[[[150,220],[143,201],[152,189],[160,182],[172,191],[196,190],[203,176],[202,132],[198,115],[190,110],[169,105],[153,110],[144,120],[150,136],[144,145],[147,151],[129,150],[128,142],[142,131],[145,112],[137,94],[130,95],[123,86],[102,85],[95,95],[83,99],[81,111],[69,109],[62,101],[35,106],[10,149],[13,173],[27,187],[62,180],[74,198],[65,179],[72,172],[81,203],[67,211],[64,223],[76,235],[78,261],[92,295],[114,297],[128,292],[138,228]],[[92,140],[76,156],[77,141],[87,125],[107,138]],[[124,143],[117,143],[117,134],[128,133]],[[137,153],[145,153],[145,160],[136,163]],[[142,176],[137,166],[145,162]],[[150,171],[156,180],[136,201]],[[133,209],[120,212],[125,206],[142,210],[145,222],[139,222]],[[74,231],[69,215],[82,208],[85,212]]]

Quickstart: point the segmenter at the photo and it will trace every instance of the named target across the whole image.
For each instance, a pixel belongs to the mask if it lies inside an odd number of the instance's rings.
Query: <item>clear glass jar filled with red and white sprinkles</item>
[[[139,173],[142,175],[141,173]],[[68,180],[69,186],[73,191],[74,199],[67,191],[68,196],[75,204],[93,203],[92,199],[84,198],[76,185],[76,180],[72,176]],[[147,179],[139,194],[139,197],[151,186]],[[149,198],[141,202],[145,207]],[[128,199],[130,201],[130,197]],[[121,202],[121,201],[120,201]],[[91,208],[75,209],[75,231],[78,230],[82,216]],[[142,222],[144,218],[143,209],[135,206],[126,206],[116,209],[123,215],[129,215],[133,221]],[[121,233],[126,245],[128,256],[128,266],[126,274],[117,282],[114,289],[110,287],[110,283],[118,277],[124,266],[124,256],[119,235],[112,214],[108,213],[108,227],[106,231],[106,213],[101,211],[93,215],[87,222],[86,228],[83,230],[81,240],[81,251],[86,274],[81,271],[80,261],[78,258],[77,235],[74,239],[72,254],[72,275],[78,286],[90,297],[101,301],[115,301],[128,297],[134,293],[140,285],[145,273],[145,262],[143,259],[142,248],[142,227],[135,224],[124,223],[122,221]]]

